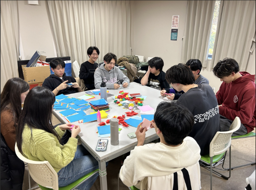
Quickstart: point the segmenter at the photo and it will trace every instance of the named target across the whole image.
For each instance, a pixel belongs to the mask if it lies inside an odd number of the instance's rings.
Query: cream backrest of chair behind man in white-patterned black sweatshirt
[[[218,131],[215,134],[210,143],[210,157],[226,152],[231,145],[231,135],[240,128],[240,125],[241,121],[239,117],[236,117],[229,127],[229,129],[231,129],[230,131]]]

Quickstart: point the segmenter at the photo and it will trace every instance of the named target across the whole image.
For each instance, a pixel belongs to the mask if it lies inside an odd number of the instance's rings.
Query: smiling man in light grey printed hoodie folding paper
[[[100,88],[103,78],[107,79],[106,86],[108,89],[118,89],[120,87],[117,84],[118,80],[124,88],[128,87],[130,84],[129,78],[118,67],[115,67],[116,55],[114,53],[107,53],[103,60],[104,63],[94,73],[95,88]]]

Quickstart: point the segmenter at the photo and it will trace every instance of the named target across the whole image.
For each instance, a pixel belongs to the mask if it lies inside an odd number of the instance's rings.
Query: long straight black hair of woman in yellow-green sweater
[[[52,105],[54,102],[54,93],[41,86],[33,87],[27,94],[16,130],[17,147],[21,154],[22,133],[25,125],[31,129],[31,136],[32,128],[42,129],[52,133],[60,141],[60,136],[52,126]]]

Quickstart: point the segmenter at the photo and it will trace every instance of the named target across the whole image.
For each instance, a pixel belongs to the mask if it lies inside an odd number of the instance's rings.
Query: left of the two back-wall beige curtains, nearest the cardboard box
[[[87,61],[87,49],[95,45],[91,1],[47,1],[47,9],[57,56]]]

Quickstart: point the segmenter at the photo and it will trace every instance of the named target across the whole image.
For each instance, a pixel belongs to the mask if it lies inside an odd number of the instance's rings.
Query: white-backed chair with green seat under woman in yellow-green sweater
[[[33,161],[25,158],[19,152],[17,143],[15,144],[15,152],[20,160],[27,162],[32,179],[37,182],[42,190],[74,190],[77,186],[91,178],[95,173],[99,173],[99,169],[95,169],[75,182],[59,188],[58,175],[48,161]]]

